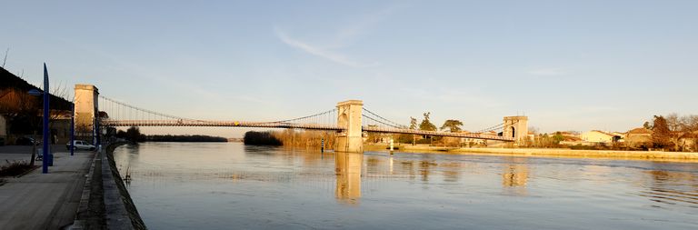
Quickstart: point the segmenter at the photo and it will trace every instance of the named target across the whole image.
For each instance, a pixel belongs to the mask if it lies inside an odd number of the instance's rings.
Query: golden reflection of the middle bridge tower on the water
[[[337,185],[334,193],[338,201],[356,205],[361,197],[361,166],[364,154],[336,153],[334,167]]]

